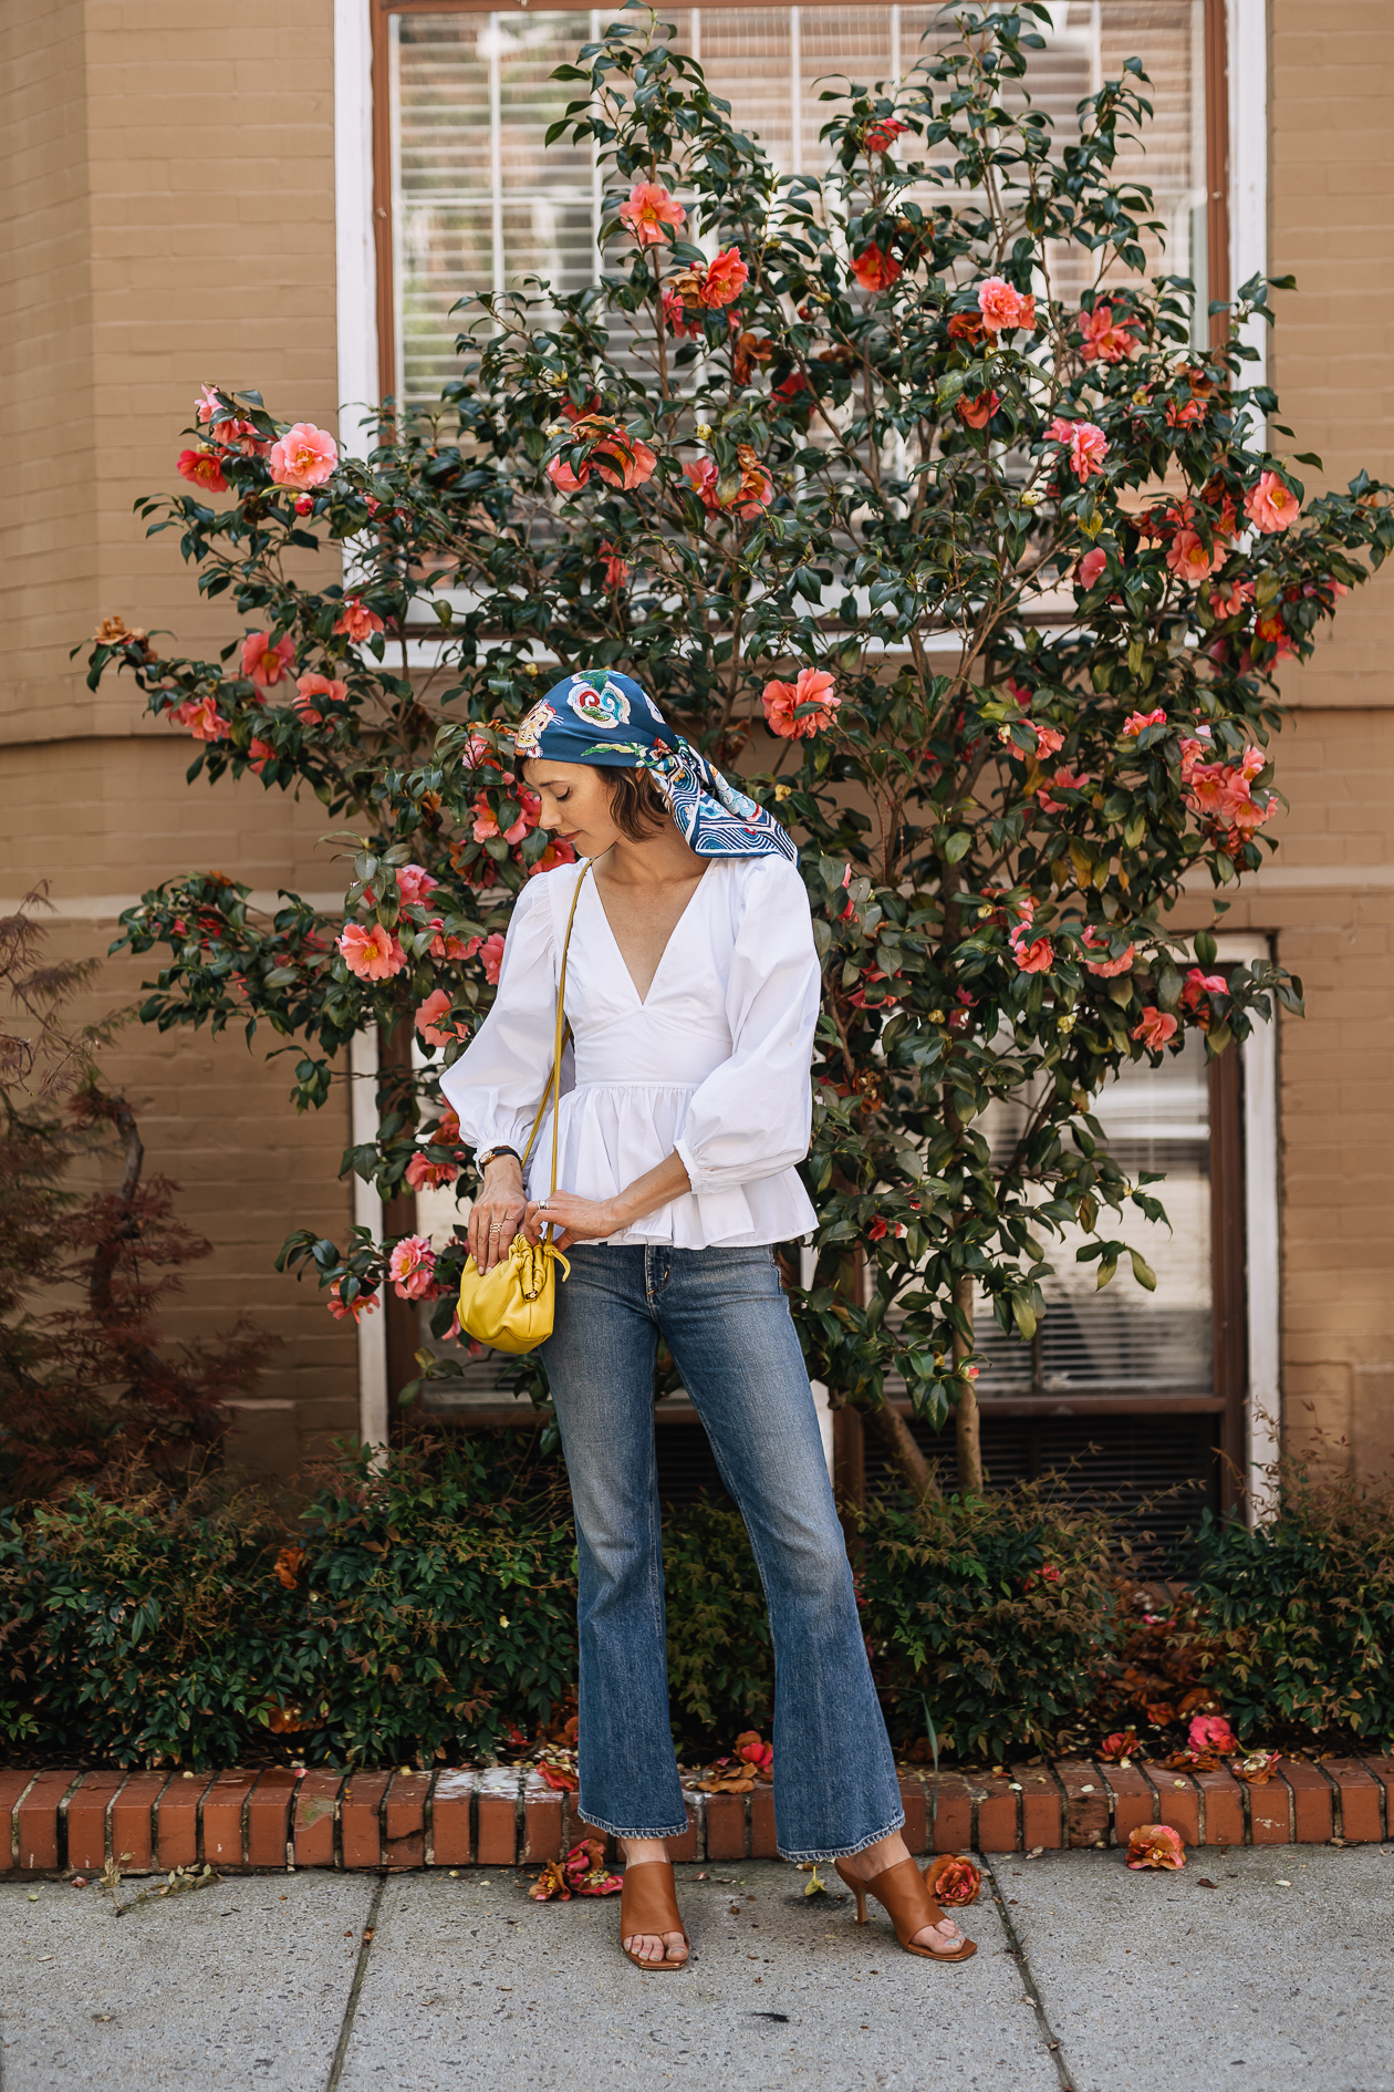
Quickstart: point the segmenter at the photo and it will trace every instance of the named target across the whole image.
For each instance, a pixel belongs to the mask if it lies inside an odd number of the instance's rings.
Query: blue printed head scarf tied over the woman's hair
[[[698,858],[780,856],[798,864],[792,835],[713,770],[633,676],[562,676],[514,730],[514,749],[520,761],[550,755],[600,770],[648,770]]]

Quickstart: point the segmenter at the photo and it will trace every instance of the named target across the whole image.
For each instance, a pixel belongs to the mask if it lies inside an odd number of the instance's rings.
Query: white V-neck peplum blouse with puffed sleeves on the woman
[[[441,1079],[462,1138],[479,1151],[527,1146],[552,1073],[579,877],[579,864],[558,864],[527,883],[497,1000]],[[548,1113],[529,1195],[612,1199],[677,1151],[692,1190],[610,1243],[738,1249],[807,1234],[817,1215],[794,1163],[809,1153],[819,990],[809,893],[786,858],[708,862],[644,1002],[587,879],[566,960],[573,1050],[562,1063],[556,1186]]]

